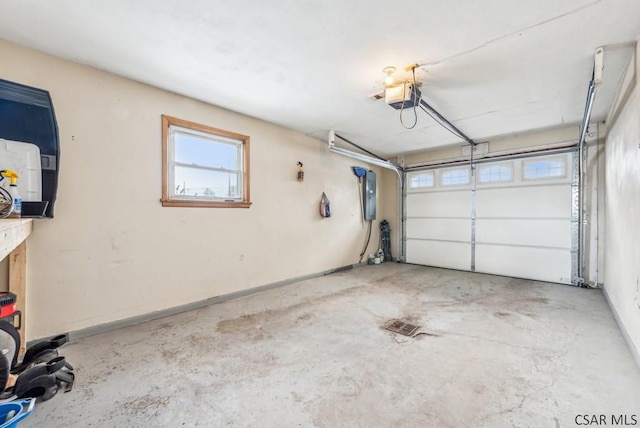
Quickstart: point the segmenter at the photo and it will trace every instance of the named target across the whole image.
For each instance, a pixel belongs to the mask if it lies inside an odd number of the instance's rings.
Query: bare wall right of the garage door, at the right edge
[[[640,49],[618,94],[606,141],[604,286],[640,358]],[[638,359],[640,364],[640,359]]]

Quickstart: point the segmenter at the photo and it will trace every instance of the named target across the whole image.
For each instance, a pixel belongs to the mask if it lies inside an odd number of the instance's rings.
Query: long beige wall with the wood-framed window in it
[[[55,218],[28,241],[30,338],[357,263],[353,161],[326,143],[7,42],[0,52],[0,78],[50,91],[60,129]],[[161,207],[161,114],[251,137],[250,209]]]

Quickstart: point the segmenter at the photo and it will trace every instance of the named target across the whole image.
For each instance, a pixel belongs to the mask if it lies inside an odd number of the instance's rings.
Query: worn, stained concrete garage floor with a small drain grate
[[[380,328],[409,320],[431,335]],[[363,266],[70,343],[21,427],[570,427],[635,415],[599,290]],[[583,422],[583,419],[579,419]]]

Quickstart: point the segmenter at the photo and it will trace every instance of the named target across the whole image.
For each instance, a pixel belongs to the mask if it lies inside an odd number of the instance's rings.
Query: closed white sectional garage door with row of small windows
[[[575,283],[574,153],[407,174],[408,263]]]

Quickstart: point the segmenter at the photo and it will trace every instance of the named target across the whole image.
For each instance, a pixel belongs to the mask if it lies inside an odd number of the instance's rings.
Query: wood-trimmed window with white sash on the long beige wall
[[[249,137],[162,116],[163,206],[248,208]]]

